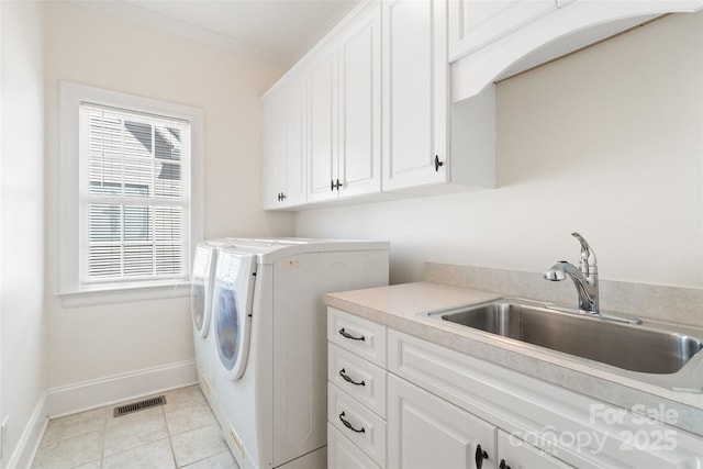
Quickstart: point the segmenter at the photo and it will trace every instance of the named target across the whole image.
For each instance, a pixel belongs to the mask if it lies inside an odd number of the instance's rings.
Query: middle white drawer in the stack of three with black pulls
[[[330,344],[327,376],[331,382],[386,418],[387,371],[334,344]]]

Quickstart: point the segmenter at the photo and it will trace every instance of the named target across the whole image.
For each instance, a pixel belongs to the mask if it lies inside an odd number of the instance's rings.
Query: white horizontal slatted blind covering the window
[[[80,283],[188,279],[190,124],[80,104]]]

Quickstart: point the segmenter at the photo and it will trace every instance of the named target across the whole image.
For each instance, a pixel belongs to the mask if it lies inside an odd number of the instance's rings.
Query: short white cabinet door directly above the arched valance
[[[556,10],[556,0],[448,0],[449,62]]]

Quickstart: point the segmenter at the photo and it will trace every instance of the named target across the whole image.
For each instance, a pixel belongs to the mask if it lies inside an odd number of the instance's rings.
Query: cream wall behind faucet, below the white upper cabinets
[[[299,212],[300,236],[391,242],[423,261],[703,288],[703,13],[674,14],[498,86],[495,190]]]

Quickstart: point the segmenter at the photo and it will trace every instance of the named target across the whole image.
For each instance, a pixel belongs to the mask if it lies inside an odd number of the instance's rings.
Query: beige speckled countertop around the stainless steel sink
[[[674,426],[703,436],[701,393],[672,391],[623,376],[614,367],[598,367],[591,360],[419,316],[422,312],[500,297],[495,292],[414,282],[331,293],[325,297],[325,304],[627,410],[636,404],[665,404],[679,414]]]

